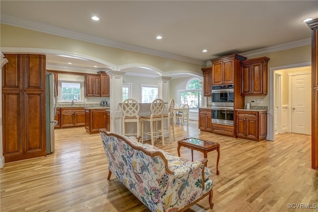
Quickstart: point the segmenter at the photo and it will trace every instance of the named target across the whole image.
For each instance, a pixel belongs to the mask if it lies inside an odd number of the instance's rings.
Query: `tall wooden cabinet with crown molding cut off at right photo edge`
[[[307,24],[312,29],[312,168],[318,170],[318,18]]]

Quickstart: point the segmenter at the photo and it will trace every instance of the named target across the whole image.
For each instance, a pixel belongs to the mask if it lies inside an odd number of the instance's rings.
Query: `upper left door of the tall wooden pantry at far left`
[[[20,55],[5,55],[8,63],[2,67],[2,90],[22,90]]]

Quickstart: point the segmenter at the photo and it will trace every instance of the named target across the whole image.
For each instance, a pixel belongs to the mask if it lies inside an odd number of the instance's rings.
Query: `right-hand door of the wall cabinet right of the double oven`
[[[251,65],[250,71],[250,91],[253,95],[263,94],[263,70],[262,63],[255,63]]]

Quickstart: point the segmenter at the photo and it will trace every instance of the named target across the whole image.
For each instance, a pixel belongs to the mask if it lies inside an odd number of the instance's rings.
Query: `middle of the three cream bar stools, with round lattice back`
[[[150,106],[151,115],[142,116],[141,124],[141,139],[144,141],[144,134],[151,136],[151,144],[154,145],[155,139],[161,137],[162,145],[164,146],[163,135],[163,110],[164,102],[162,99],[155,99]],[[150,132],[144,133],[144,123],[150,122]],[[157,122],[160,122],[160,129],[157,129]]]

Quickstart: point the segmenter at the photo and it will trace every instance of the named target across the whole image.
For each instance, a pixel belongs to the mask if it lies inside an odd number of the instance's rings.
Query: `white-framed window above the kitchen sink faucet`
[[[84,84],[81,80],[59,80],[58,98],[59,102],[72,102],[73,99],[79,102],[84,101]]]

